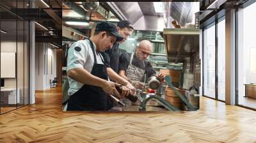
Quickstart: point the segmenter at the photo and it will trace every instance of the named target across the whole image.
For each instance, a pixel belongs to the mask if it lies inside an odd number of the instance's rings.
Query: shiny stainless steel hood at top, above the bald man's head
[[[135,30],[163,31],[163,13],[154,11],[153,2],[107,2],[122,20],[129,20]]]

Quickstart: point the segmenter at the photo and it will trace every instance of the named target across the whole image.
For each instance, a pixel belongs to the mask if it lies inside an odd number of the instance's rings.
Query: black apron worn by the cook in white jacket
[[[94,57],[91,74],[100,79],[108,80],[106,64],[97,64],[93,43],[90,39],[87,40],[90,41]],[[101,56],[100,58],[102,60]],[[103,60],[102,62],[104,63]],[[108,94],[103,91],[102,87],[84,84],[81,89],[70,96],[67,110],[109,110],[112,107],[113,101]]]

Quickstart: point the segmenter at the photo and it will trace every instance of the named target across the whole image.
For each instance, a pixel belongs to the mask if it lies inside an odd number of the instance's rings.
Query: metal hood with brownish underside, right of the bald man
[[[199,51],[199,29],[164,29],[164,46],[169,63],[184,63]]]

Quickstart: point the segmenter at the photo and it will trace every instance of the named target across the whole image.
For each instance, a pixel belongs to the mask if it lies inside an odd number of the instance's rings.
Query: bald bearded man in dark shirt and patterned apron
[[[148,55],[152,52],[152,43],[148,40],[140,41],[136,52],[133,54],[122,53],[119,61],[118,74],[124,79],[132,83],[134,87],[143,87],[143,75],[146,73],[147,77],[156,75],[152,65],[147,61]],[[163,74],[157,75],[163,80]]]

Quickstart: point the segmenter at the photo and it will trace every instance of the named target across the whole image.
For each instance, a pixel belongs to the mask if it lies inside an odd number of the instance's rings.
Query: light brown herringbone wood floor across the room
[[[0,142],[256,142],[256,112],[204,97],[196,112],[62,112],[58,87],[1,115]]]

